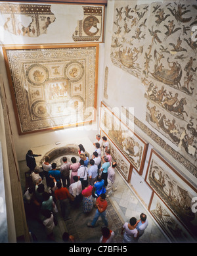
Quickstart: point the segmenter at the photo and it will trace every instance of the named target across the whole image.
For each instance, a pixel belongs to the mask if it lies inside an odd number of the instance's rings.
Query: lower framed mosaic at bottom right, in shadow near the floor
[[[173,243],[195,242],[191,234],[171,213],[165,203],[154,193],[148,211]]]

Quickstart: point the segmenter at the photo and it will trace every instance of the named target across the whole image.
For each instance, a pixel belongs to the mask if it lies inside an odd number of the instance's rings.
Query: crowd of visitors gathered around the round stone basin
[[[83,213],[89,213],[93,207],[96,207],[95,216],[87,227],[97,226],[97,220],[101,217],[104,226],[102,226],[99,242],[110,243],[114,239],[114,231],[108,228],[108,219],[106,218],[106,209],[108,203],[106,197],[109,197],[117,187],[115,186],[117,166],[112,161],[110,155],[110,144],[106,137],[100,138],[97,134],[93,143],[95,151],[90,159],[85,153],[82,144],[78,147],[78,157],[72,157],[68,162],[66,156],[62,157],[62,165],[56,168],[56,163],[50,163],[49,156],[45,156],[45,161],[41,167],[36,165],[35,157],[30,150],[26,154],[26,163],[30,168],[32,177],[32,186],[24,192],[24,206],[26,215],[37,218],[45,226],[45,232],[49,240],[55,240],[53,229],[57,224],[56,214],[58,212],[56,204],[59,203],[62,218],[70,218],[70,207],[81,207]],[[47,191],[43,184],[45,177]],[[132,217],[123,224],[121,234],[123,242],[136,242],[142,236],[144,229],[148,226],[146,215],[142,213],[141,219]],[[64,242],[75,242],[73,236],[64,232],[62,236]]]

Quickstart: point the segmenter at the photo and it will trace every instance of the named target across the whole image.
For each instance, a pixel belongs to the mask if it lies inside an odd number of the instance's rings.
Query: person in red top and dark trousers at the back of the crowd
[[[57,189],[55,190],[55,199],[59,200],[60,207],[62,211],[62,217],[64,220],[68,220],[70,217],[70,211],[69,211],[69,201],[70,201],[70,193],[68,191],[68,188],[63,188],[61,182],[56,182]]]

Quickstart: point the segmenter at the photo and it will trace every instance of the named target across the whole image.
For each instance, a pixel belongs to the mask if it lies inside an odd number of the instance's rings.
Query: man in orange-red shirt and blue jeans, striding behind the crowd
[[[102,221],[104,222],[104,226],[108,226],[108,220],[106,218],[106,208],[108,206],[108,203],[106,201],[106,195],[104,193],[100,194],[100,196],[97,198],[97,211],[95,213],[95,217],[93,218],[93,221],[87,224],[87,226],[94,228],[95,224],[99,217],[102,218]]]

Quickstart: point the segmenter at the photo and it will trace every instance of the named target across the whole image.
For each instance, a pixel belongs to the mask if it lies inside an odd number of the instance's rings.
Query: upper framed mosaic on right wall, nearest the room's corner
[[[100,128],[142,174],[148,143],[128,128],[103,102],[100,105]]]

